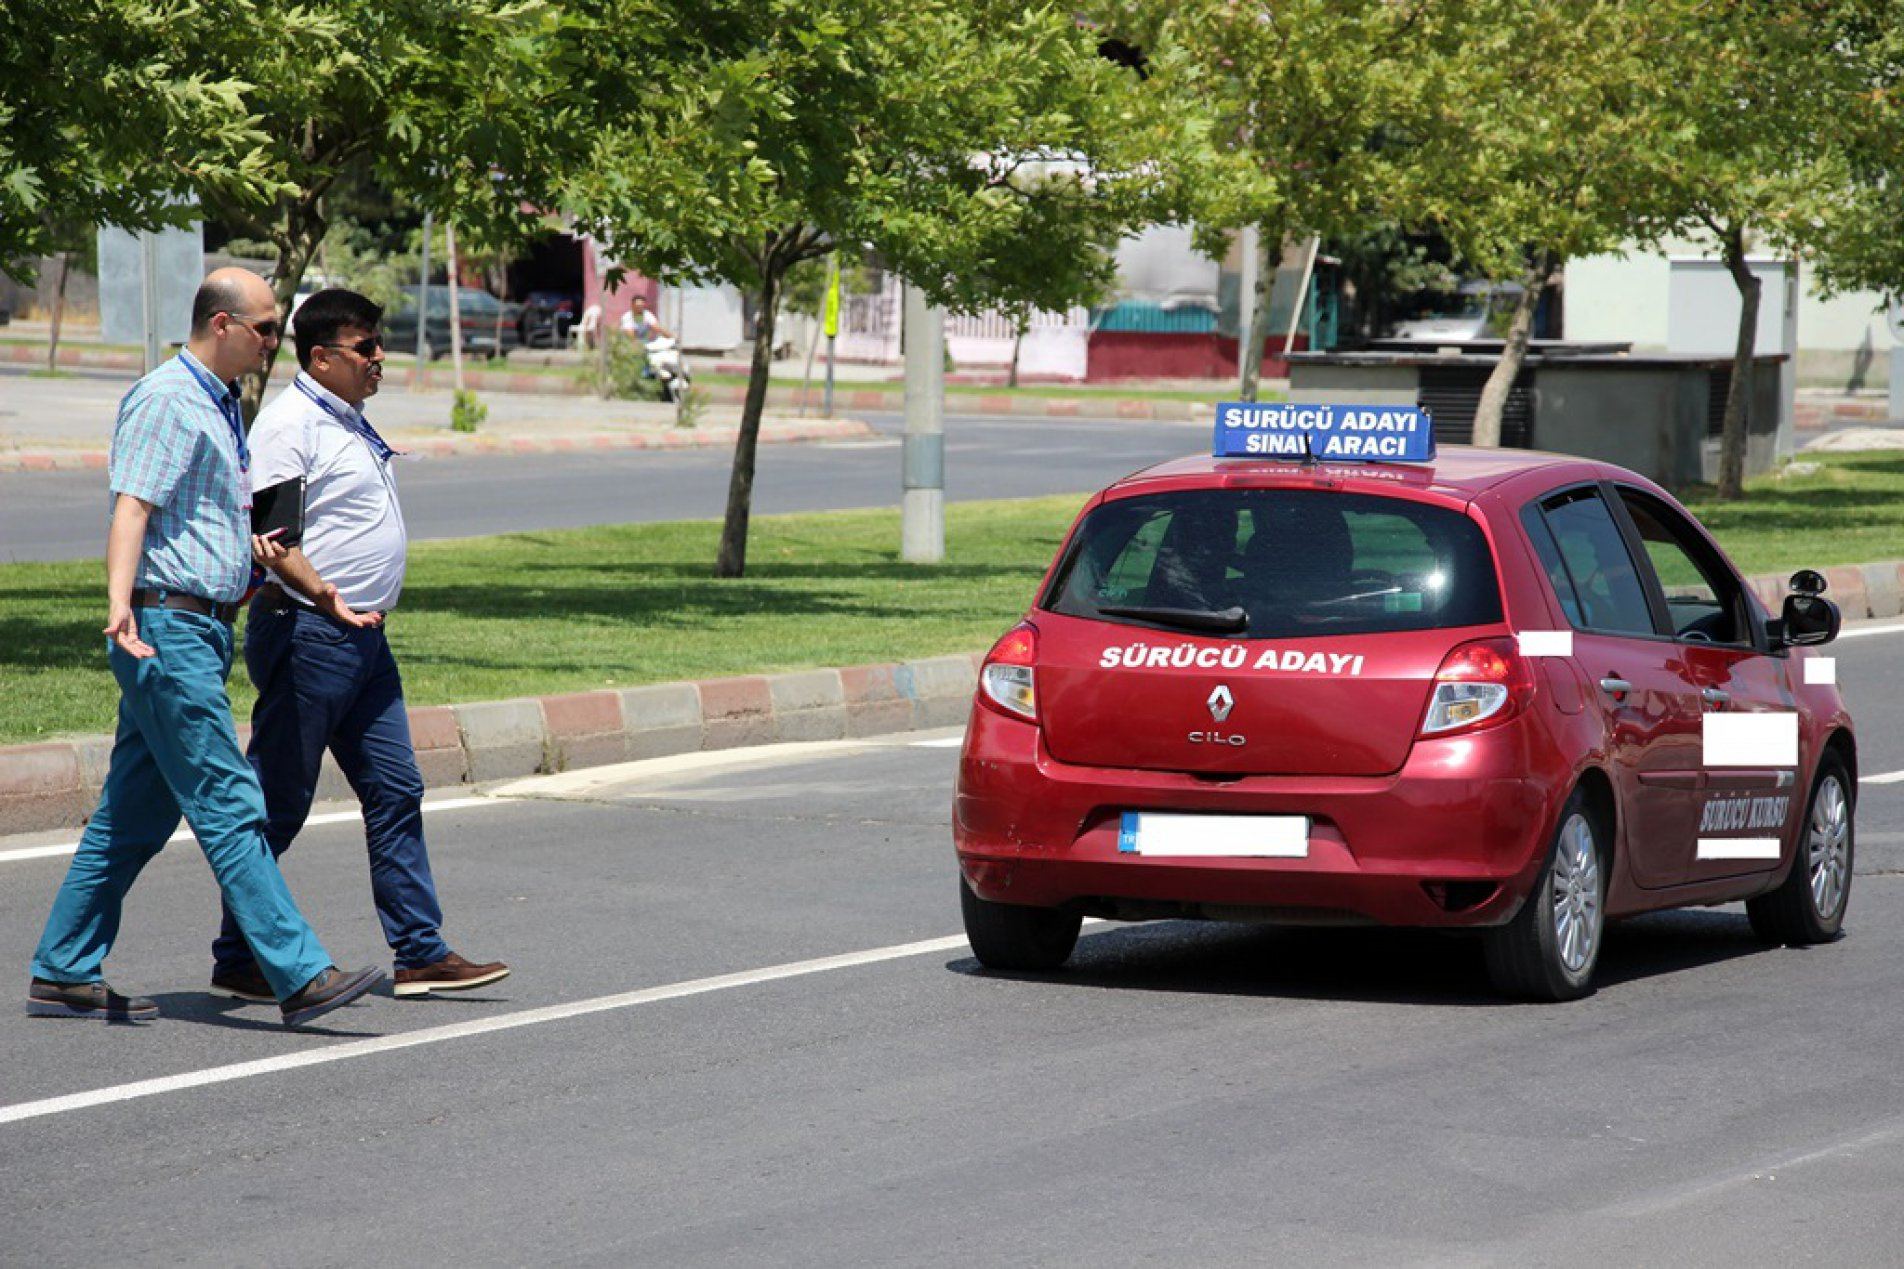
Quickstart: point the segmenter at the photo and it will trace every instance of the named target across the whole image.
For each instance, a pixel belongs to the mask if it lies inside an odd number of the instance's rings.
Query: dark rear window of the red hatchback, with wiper
[[[1247,638],[1500,621],[1487,539],[1445,507],[1327,490],[1182,490],[1108,501],[1078,530],[1043,608],[1241,608]]]

